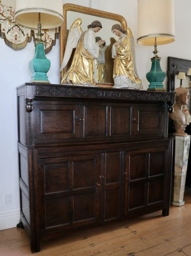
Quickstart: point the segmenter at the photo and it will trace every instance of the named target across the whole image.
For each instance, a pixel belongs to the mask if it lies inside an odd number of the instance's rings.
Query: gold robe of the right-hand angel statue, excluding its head
[[[141,88],[141,79],[136,72],[130,36],[123,34],[118,41],[121,44],[113,45],[112,48],[112,58],[115,58],[113,66],[114,85],[116,87]]]

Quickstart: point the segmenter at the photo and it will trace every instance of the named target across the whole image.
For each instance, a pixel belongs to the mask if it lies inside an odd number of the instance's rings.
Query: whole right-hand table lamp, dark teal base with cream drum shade
[[[174,1],[173,0],[138,0],[137,43],[153,45],[154,57],[151,59],[151,70],[146,77],[148,90],[163,91],[166,73],[160,67],[157,45],[171,43],[174,35]]]

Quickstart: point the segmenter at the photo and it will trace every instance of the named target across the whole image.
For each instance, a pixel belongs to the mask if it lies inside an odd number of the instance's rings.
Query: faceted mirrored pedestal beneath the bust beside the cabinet
[[[189,158],[190,135],[175,136],[175,163],[172,176],[171,205],[182,206],[184,201],[184,189],[186,171]]]

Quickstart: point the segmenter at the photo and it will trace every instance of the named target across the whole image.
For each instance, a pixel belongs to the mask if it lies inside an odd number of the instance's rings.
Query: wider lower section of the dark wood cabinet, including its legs
[[[169,214],[171,139],[72,149],[19,144],[21,220],[33,252],[71,228]]]

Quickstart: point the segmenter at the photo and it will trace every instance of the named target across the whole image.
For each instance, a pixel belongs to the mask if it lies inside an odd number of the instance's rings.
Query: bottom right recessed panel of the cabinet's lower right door
[[[162,186],[163,186],[163,179],[158,179],[158,180],[149,182],[148,203],[154,203],[154,202],[163,200]]]

